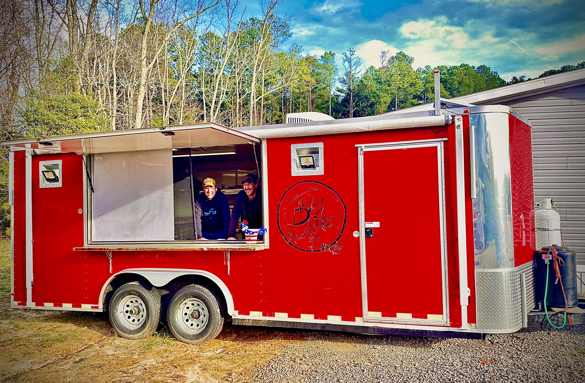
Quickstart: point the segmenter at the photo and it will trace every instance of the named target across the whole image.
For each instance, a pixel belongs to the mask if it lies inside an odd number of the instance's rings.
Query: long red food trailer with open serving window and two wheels
[[[230,129],[12,140],[12,307],[166,320],[481,337],[535,305],[531,127],[507,106]],[[231,156],[231,157],[230,157]],[[259,174],[255,244],[194,238],[204,177],[233,204]]]

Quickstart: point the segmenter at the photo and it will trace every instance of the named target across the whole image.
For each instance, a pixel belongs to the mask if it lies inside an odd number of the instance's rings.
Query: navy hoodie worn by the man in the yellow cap
[[[202,230],[208,233],[223,232],[222,238],[228,239],[229,218],[228,197],[221,191],[215,192],[212,199],[207,199],[205,194],[199,194],[195,199],[197,239],[203,237]]]

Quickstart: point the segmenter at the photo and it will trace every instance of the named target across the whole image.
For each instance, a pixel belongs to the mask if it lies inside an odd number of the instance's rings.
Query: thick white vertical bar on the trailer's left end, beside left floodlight
[[[33,187],[32,187],[32,149],[25,151],[25,215],[26,215],[26,307],[35,307],[33,303]]]

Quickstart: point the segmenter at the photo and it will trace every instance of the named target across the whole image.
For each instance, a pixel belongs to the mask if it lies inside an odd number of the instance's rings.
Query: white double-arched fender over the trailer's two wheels
[[[217,277],[215,274],[211,274],[209,271],[204,270],[192,270],[188,268],[127,268],[122,271],[116,272],[111,277],[108,278],[108,281],[105,282],[104,287],[102,287],[101,292],[99,293],[99,308],[103,309],[104,307],[104,294],[106,288],[110,282],[115,278],[117,275],[120,274],[138,274],[142,277],[146,278],[155,287],[162,287],[166,285],[168,282],[174,280],[177,277],[181,277],[182,275],[201,275],[202,277],[209,278],[210,280],[214,281],[216,285],[218,285],[219,289],[223,294],[223,298],[225,298],[225,302],[228,305],[226,308],[229,315],[233,315],[233,298],[232,294],[229,292],[228,287],[223,283],[221,279]]]

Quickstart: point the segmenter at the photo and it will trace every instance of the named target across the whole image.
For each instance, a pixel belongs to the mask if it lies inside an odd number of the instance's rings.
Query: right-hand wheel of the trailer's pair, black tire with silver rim
[[[218,336],[223,327],[219,299],[208,288],[187,285],[173,295],[167,322],[178,340],[203,344]]]

